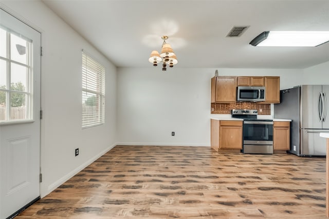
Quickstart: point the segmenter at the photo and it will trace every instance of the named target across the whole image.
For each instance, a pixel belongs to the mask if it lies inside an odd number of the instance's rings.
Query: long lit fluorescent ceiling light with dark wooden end
[[[319,46],[329,41],[329,31],[265,31],[255,37],[252,46]]]

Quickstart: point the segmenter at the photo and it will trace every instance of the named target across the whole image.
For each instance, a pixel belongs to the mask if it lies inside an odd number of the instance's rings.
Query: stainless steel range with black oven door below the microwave
[[[232,109],[233,118],[243,118],[243,153],[273,153],[273,121],[259,120],[254,109]]]

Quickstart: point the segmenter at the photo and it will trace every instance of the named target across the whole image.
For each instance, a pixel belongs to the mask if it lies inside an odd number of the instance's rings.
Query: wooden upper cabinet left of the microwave
[[[237,77],[215,76],[211,78],[211,103],[236,102]]]

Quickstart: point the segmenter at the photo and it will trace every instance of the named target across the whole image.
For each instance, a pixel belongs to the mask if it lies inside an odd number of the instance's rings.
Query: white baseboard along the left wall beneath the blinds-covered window
[[[92,164],[94,161],[96,161],[99,157],[101,157],[102,155],[104,155],[106,152],[108,152],[109,150],[111,150],[112,148],[114,148],[116,145],[118,145],[117,143],[109,146],[108,148],[106,148],[105,150],[99,152],[98,154],[96,154],[94,157],[90,158],[89,160],[87,160],[85,163],[83,163],[82,165],[80,165],[79,167],[77,167],[76,169],[72,170],[71,172],[69,172],[68,174],[66,174],[65,176],[63,176],[62,178],[60,178],[58,181],[54,182],[53,184],[48,186],[48,193],[52,192],[53,190],[57,189],[59,186],[61,186],[63,183],[65,183],[66,181],[68,181],[72,176],[76,175],[78,172],[80,172],[81,170],[83,170],[84,168],[86,168],[88,165]],[[47,194],[41,194],[41,197],[46,196]]]

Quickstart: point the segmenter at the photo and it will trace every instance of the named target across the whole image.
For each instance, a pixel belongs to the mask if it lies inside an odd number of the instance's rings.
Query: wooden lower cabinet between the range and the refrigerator
[[[290,149],[290,122],[273,122],[273,152],[286,153]]]

